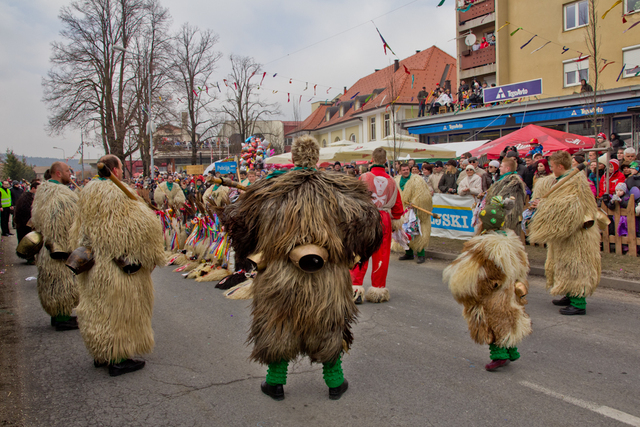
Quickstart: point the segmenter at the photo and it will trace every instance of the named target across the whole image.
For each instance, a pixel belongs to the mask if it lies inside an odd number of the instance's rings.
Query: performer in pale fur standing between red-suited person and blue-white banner
[[[400,196],[405,207],[409,205],[431,211],[433,209],[431,202],[431,192],[427,183],[420,175],[412,174],[409,165],[403,163],[400,165],[400,175],[395,177],[396,184],[400,187]],[[409,242],[409,250],[405,250],[404,255],[398,258],[400,261],[411,260],[414,258],[414,252],[418,255],[418,264],[425,262],[424,248],[429,246],[431,237],[431,216],[419,209],[415,209],[416,217],[420,220],[421,235],[413,236]]]

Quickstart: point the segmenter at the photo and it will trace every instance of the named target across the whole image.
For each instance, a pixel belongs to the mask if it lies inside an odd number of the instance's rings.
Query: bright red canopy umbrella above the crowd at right
[[[529,125],[502,138],[481,145],[470,152],[471,155],[476,157],[486,154],[488,159],[497,159],[505,147],[515,146],[518,149],[518,155],[524,157],[533,148],[531,140],[534,138],[538,140],[538,143],[542,144],[543,155],[545,156],[560,150],[573,154],[585,148],[592,148],[596,143],[593,138],[586,136]]]

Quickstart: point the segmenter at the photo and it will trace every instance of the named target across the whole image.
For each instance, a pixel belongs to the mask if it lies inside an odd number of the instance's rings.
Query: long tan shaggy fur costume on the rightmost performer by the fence
[[[542,197],[555,183],[555,176],[539,179],[532,198]],[[547,244],[545,275],[551,295],[588,297],[600,283],[600,231],[583,228],[585,218],[595,219],[597,213],[583,173],[540,201],[529,224],[529,241]]]

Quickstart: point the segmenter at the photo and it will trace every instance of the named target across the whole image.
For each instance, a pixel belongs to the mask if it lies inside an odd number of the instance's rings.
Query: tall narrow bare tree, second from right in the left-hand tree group
[[[201,31],[188,23],[182,25],[173,40],[171,80],[186,101],[192,164],[197,162],[199,135],[210,134],[220,124],[213,109],[215,91],[209,90],[207,83],[222,57],[213,50],[217,43],[218,36],[211,30]]]

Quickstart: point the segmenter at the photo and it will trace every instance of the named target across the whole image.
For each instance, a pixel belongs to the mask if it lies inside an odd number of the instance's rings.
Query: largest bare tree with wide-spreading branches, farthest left
[[[144,0],[73,1],[59,18],[64,42],[52,43],[52,68],[43,79],[48,131],[97,128],[107,153],[122,161],[138,106],[124,54],[143,25]]]

